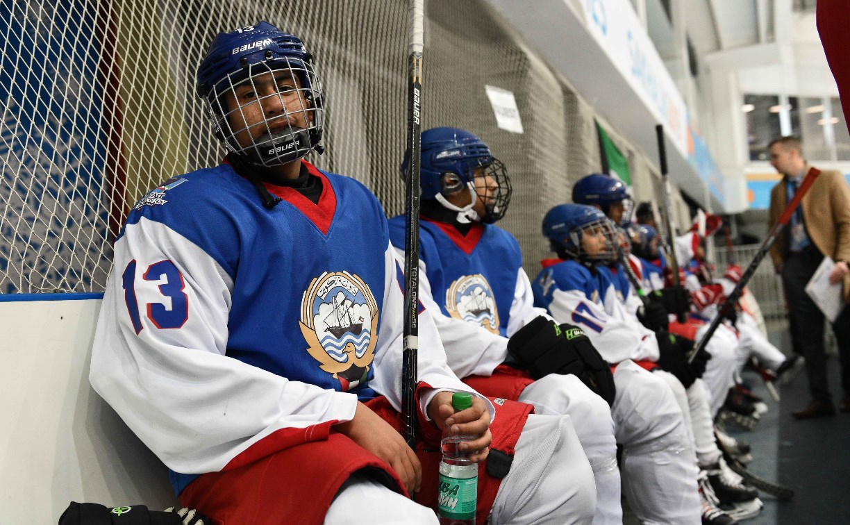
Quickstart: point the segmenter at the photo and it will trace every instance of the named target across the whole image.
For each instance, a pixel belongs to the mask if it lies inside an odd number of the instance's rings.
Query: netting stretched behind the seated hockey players
[[[534,276],[547,255],[543,213],[599,169],[595,112],[484,0],[426,4],[423,129],[466,128],[505,162],[514,195],[499,224]],[[103,291],[133,203],[223,157],[195,69],[218,31],[258,20],[317,57],[326,153],[310,160],[402,212],[406,0],[3,2],[0,293]],[[524,133],[496,126],[487,86],[514,94]],[[649,163],[636,165],[649,181]]]

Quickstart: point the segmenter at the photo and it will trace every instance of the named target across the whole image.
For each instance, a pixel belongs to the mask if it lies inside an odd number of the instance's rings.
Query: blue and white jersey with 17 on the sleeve
[[[573,260],[544,265],[531,283],[536,306],[546,308],[558,323],[581,326],[611,364],[658,360],[655,334],[626,311],[609,272],[591,271]]]

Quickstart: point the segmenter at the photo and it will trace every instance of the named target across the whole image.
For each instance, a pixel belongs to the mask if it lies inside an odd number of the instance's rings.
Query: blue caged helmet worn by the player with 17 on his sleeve
[[[583,246],[588,234],[604,236],[604,242],[592,252]],[[590,262],[611,262],[616,259],[617,234],[614,223],[598,208],[583,204],[561,204],[543,217],[543,236],[558,255]]]

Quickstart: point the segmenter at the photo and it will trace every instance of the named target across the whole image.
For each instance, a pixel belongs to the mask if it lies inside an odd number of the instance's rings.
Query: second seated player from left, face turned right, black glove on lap
[[[593,468],[593,522],[621,523],[613,378],[580,330],[534,308],[519,243],[492,224],[507,209],[507,170],[480,138],[453,127],[422,133],[421,165],[419,298],[449,366],[485,395],[533,404],[538,414],[570,415]],[[402,257],[405,216],[389,224]],[[544,355],[525,362],[529,353]]]

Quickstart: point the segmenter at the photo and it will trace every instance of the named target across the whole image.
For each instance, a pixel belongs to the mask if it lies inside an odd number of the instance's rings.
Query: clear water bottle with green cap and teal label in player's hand
[[[472,394],[455,392],[451,405],[456,411],[473,405]],[[453,436],[446,429],[443,437],[443,460],[439,462],[439,496],[437,513],[440,525],[475,525],[475,506],[478,503],[478,464],[458,448],[460,443],[475,436]]]

